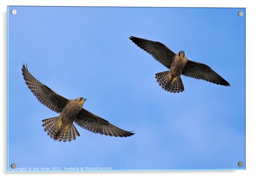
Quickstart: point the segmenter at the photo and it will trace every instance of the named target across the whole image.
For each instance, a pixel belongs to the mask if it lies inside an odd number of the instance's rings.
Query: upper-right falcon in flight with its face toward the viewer
[[[188,60],[184,51],[175,54],[161,42],[130,37],[139,48],[151,54],[162,65],[170,69],[156,73],[156,81],[165,91],[179,93],[184,91],[181,75],[195,79],[203,79],[217,85],[230,86],[218,73],[214,72],[208,65]]]

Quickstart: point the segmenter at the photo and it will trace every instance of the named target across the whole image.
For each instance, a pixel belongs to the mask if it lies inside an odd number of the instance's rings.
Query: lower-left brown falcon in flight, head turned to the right
[[[48,132],[48,135],[54,140],[65,142],[67,140],[75,140],[76,136],[80,136],[73,122],[91,132],[100,133],[101,135],[105,134],[106,136],[115,137],[134,135],[134,133],[122,130],[110,124],[107,120],[83,109],[82,106],[86,99],[82,97],[66,99],[55,93],[34,78],[24,64],[22,66],[22,74],[26,81],[25,83],[37,97],[38,101],[56,113],[60,113],[57,117],[42,120],[44,122],[44,130]]]

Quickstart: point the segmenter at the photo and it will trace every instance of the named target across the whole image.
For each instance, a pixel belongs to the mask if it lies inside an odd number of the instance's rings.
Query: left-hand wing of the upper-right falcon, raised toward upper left
[[[139,46],[139,48],[142,48],[151,54],[157,61],[161,62],[162,65],[167,68],[171,68],[171,64],[176,54],[167,46],[161,42],[154,42],[132,36],[130,37],[130,40]]]

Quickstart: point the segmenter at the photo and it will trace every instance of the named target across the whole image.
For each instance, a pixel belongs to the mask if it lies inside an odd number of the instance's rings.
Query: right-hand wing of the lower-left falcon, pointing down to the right
[[[93,133],[100,133],[101,135],[105,134],[106,136],[115,137],[128,137],[134,135],[134,133],[122,130],[85,109],[82,109],[80,113],[78,113],[75,123]]]

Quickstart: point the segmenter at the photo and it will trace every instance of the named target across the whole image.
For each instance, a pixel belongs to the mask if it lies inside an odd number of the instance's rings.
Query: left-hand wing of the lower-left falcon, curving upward
[[[46,85],[43,85],[39,82],[31,73],[28,71],[28,68],[23,64],[22,66],[22,75],[25,79],[25,83],[28,85],[28,88],[34,93],[34,96],[37,97],[38,101],[46,105],[49,109],[60,113],[68,103],[68,99],[63,96],[55,93],[51,88],[48,88]]]

